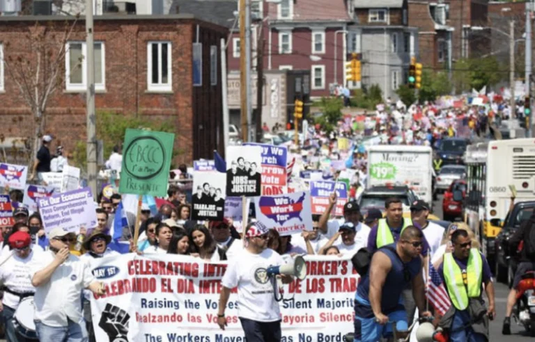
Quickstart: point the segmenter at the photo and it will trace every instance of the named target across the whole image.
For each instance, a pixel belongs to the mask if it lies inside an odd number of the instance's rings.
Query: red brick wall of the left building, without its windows
[[[35,19],[0,21],[0,42],[3,43],[6,59],[29,53],[26,34],[35,24]],[[194,95],[192,42],[196,24],[201,25],[203,32],[210,33],[210,42],[206,42],[208,50],[203,51],[203,91]],[[51,40],[53,36],[57,38],[63,33],[65,22],[54,21],[45,25],[47,40]],[[176,163],[191,163],[194,158],[208,157],[208,152],[211,154],[212,149],[219,144],[213,140],[210,141],[213,146],[196,148],[192,125],[195,116],[193,104],[210,99],[210,108],[201,108],[206,111],[203,120],[212,117],[215,122],[221,121],[220,65],[218,85],[204,89],[206,84],[210,84],[209,45],[216,44],[217,40],[219,47],[219,38],[226,38],[226,29],[193,19],[95,18],[95,41],[104,42],[106,64],[106,91],[97,92],[95,96],[97,111],[143,115],[160,122],[170,121],[175,127],[176,147],[183,150],[183,154],[176,158]],[[70,40],[84,39],[84,22],[79,21]],[[173,91],[170,93],[147,91],[147,42],[151,40],[171,42]],[[56,44],[55,49],[57,47]],[[64,67],[61,73],[64,76]],[[5,72],[5,85],[6,91],[0,93],[0,117],[3,122],[1,131],[6,132],[6,136],[30,136],[33,120],[20,90],[10,79],[8,70]],[[67,150],[72,150],[77,141],[86,139],[85,100],[85,92],[66,92],[64,81],[49,100],[45,131],[57,136]],[[222,136],[222,127],[212,126],[209,129],[205,132],[206,136]]]

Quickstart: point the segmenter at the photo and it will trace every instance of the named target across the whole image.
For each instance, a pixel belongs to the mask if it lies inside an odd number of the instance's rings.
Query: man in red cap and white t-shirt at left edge
[[[0,267],[0,282],[5,286],[2,307],[3,322],[6,326],[6,338],[8,341],[20,341],[20,336],[15,331],[13,316],[20,301],[27,297],[33,297],[36,288],[31,285],[30,265],[36,254],[33,253],[31,236],[24,231],[16,231],[8,240],[13,248],[13,256],[8,257],[6,263]],[[39,246],[37,246],[40,248]],[[4,259],[6,256],[4,256]]]

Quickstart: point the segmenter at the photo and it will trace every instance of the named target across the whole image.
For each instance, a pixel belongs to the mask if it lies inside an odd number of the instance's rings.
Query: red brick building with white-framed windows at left
[[[52,40],[65,31],[67,20],[0,17],[0,58],[2,53],[6,60],[29,54],[27,34],[37,28]],[[84,25],[79,19],[70,35],[63,83],[47,106],[45,132],[68,151],[86,140]],[[95,17],[94,32],[97,112],[171,122],[182,150],[176,163],[212,158],[216,147],[224,152],[219,44],[228,29],[188,14],[107,15]],[[77,60],[82,67],[72,67]],[[32,134],[33,118],[6,68],[0,68],[1,133],[24,138]]]

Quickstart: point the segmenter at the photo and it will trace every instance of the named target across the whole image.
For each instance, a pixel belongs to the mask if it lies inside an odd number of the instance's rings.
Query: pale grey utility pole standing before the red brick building
[[[95,115],[95,45],[93,42],[93,1],[86,0],[86,120],[87,181],[93,197],[97,197],[97,129]]]

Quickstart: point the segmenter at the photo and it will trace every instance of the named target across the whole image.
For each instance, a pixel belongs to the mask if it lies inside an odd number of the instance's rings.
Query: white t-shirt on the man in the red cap
[[[35,259],[36,254],[32,251],[22,259],[13,254],[6,263],[0,267],[0,282],[3,283],[10,291],[16,293],[34,293],[36,288],[31,284],[30,268],[31,263]],[[5,258],[3,258],[5,259]],[[11,309],[17,309],[19,306],[20,297],[4,291],[2,304]]]

